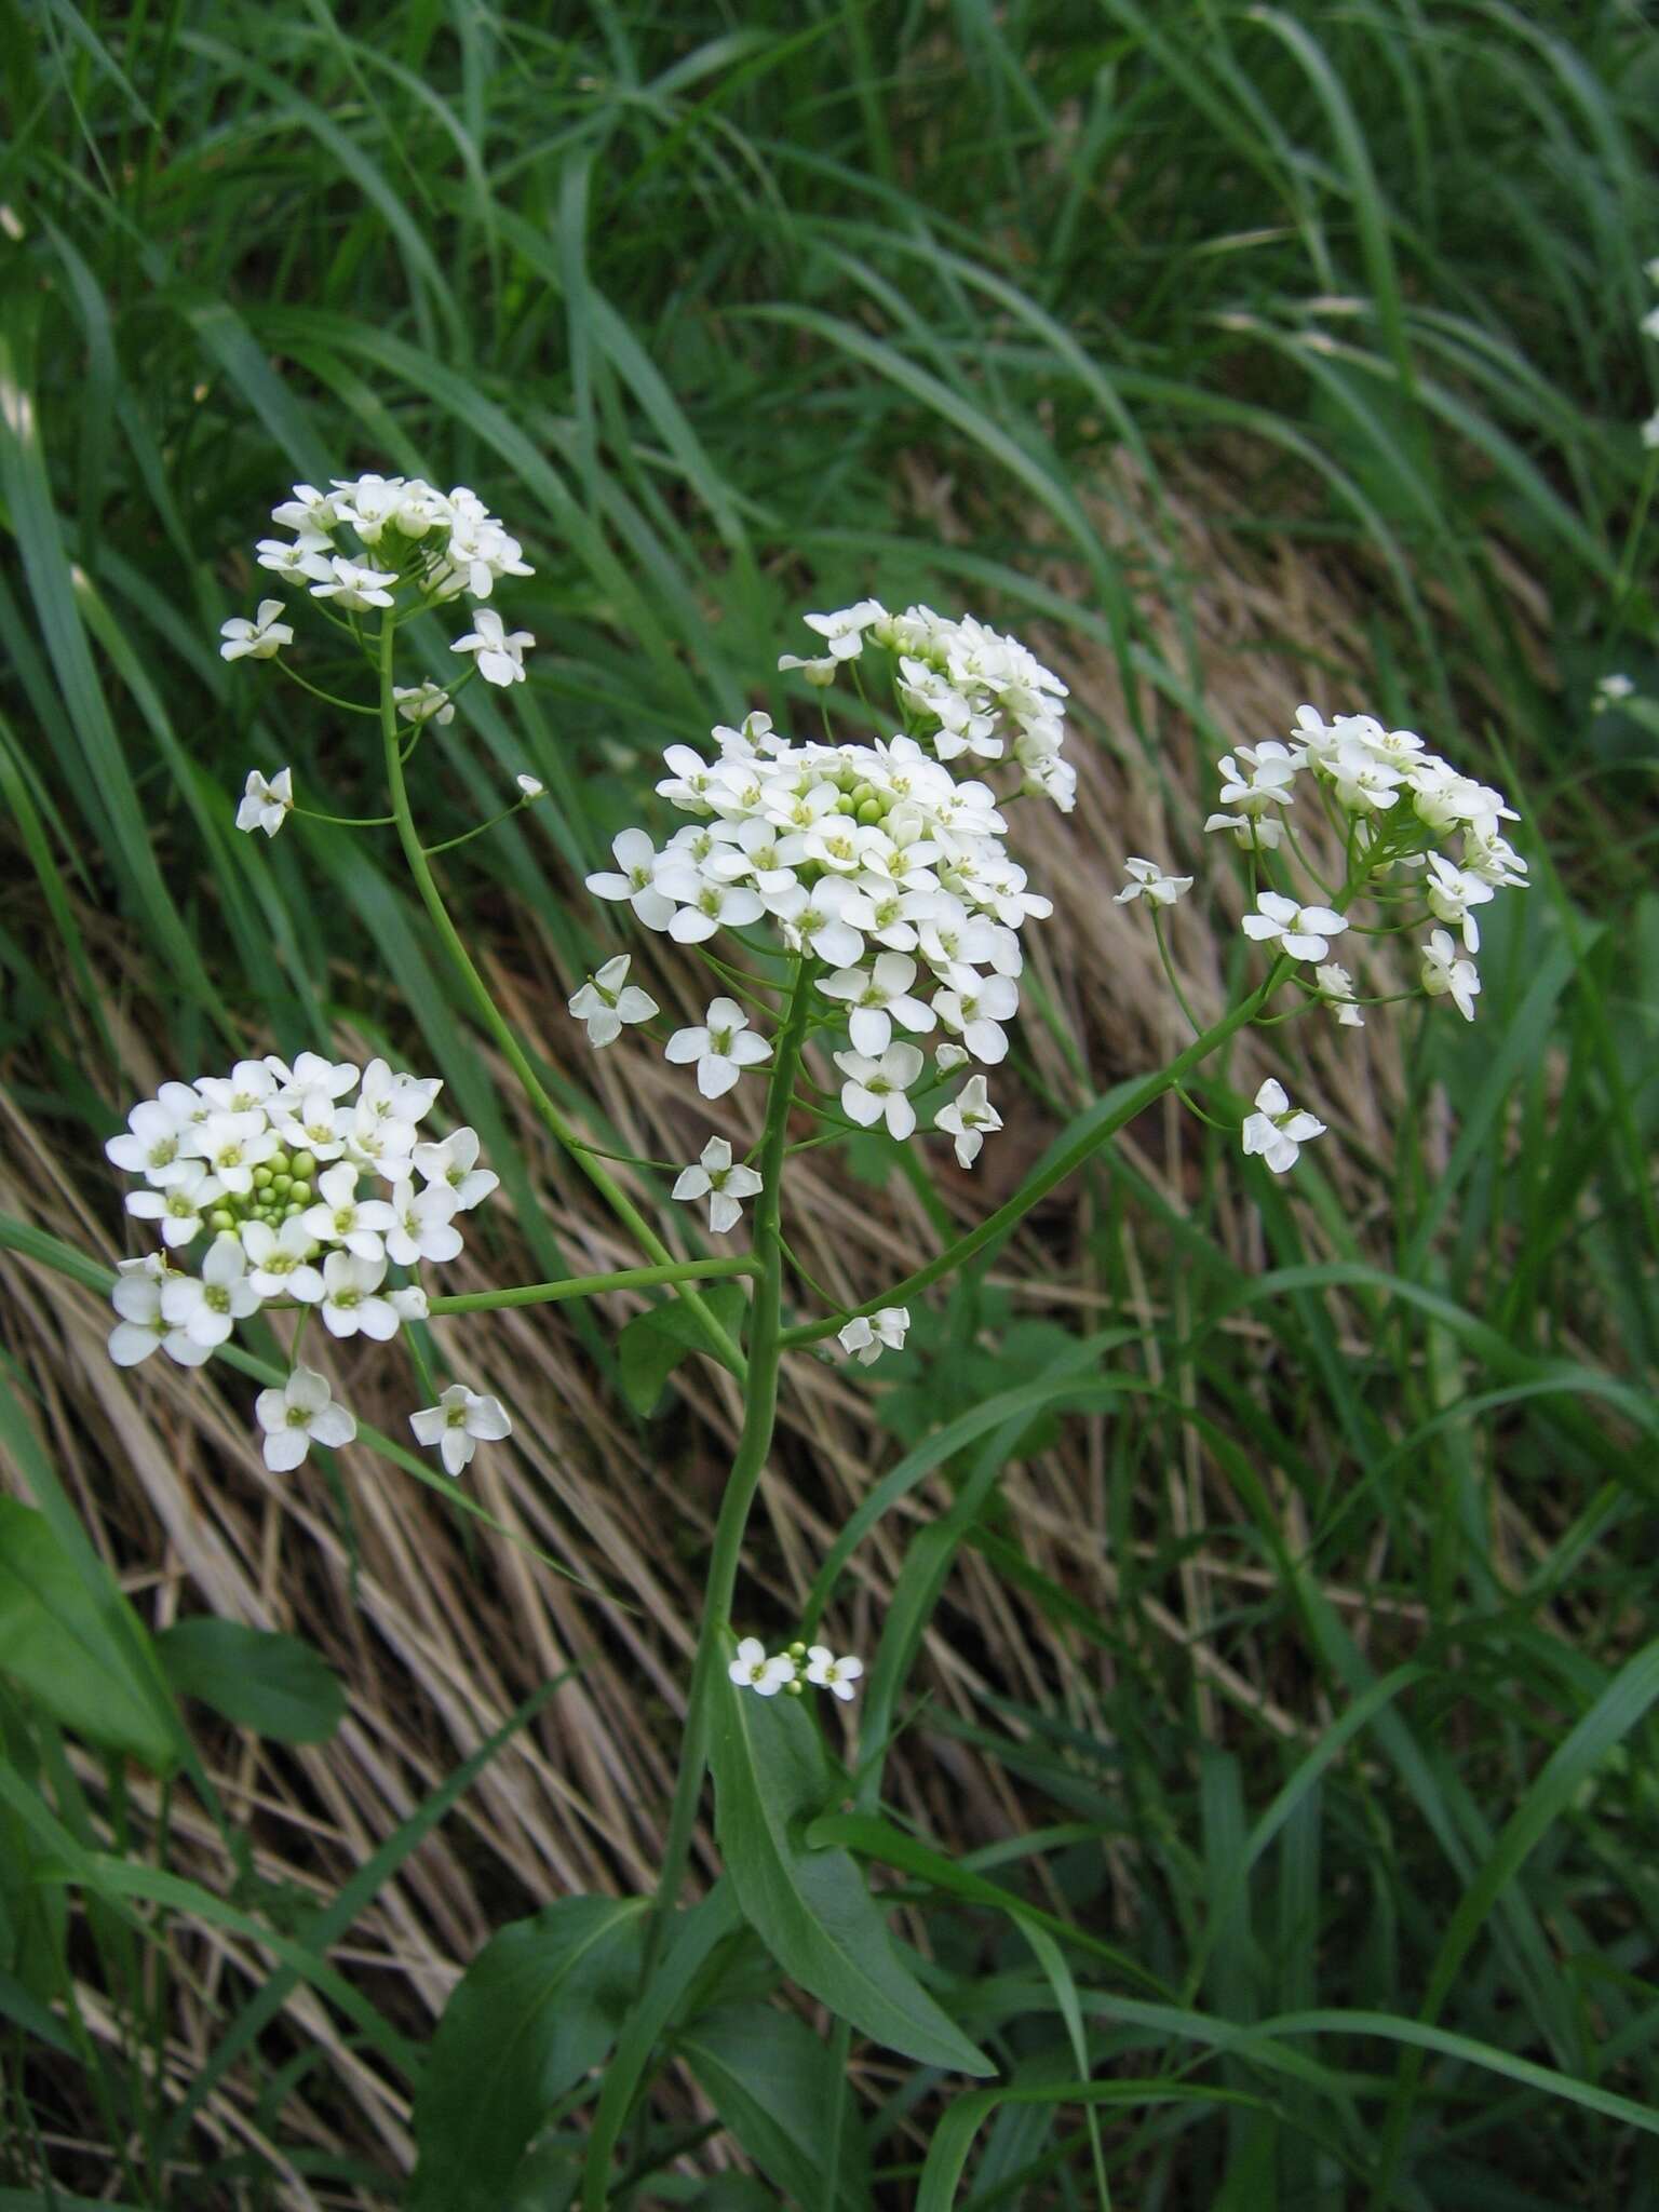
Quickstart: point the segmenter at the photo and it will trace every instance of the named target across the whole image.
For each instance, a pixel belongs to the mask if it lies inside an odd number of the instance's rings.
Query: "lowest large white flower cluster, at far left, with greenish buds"
[[[155,1221],[166,1250],[122,1263],[111,1358],[135,1367],[159,1347],[199,1367],[272,1301],[314,1307],[332,1336],[380,1343],[425,1318],[427,1292],[418,1283],[387,1290],[387,1265],[453,1259],[456,1214],[498,1183],[478,1166],[471,1128],[440,1144],[420,1139],[438,1091],[438,1077],[400,1075],[385,1060],[358,1068],[301,1053],[290,1066],[272,1053],[142,1099],[104,1150],[142,1177],[126,1210]],[[376,1183],[389,1194],[372,1194]],[[192,1245],[201,1248],[195,1267],[186,1265]],[[310,1436],[336,1440],[327,1385],[316,1398],[321,1378],[305,1376],[294,1369],[281,1409],[283,1394],[259,1402],[272,1467],[299,1467]]]

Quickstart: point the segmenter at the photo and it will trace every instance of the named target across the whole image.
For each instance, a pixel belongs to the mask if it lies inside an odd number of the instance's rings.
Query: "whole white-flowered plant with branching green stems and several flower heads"
[[[666,836],[646,825],[622,830],[615,865],[591,874],[586,887],[602,911],[659,940],[668,960],[706,971],[703,1018],[686,1026],[664,1020],[635,978],[644,940],[604,958],[568,1006],[593,1051],[657,1051],[681,1071],[686,1106],[703,1130],[692,1157],[628,1161],[641,1177],[661,1177],[664,1168],[672,1175],[668,1188],[646,1186],[661,1197],[653,1219],[611,1172],[617,1155],[591,1144],[580,1115],[546,1091],[473,964],[434,872],[436,854],[535,803],[540,781],[520,774],[518,799],[467,838],[431,847],[416,823],[411,770],[422,734],[453,723],[456,699],[473,677],[502,690],[526,681],[533,635],[509,630],[502,613],[484,604],[500,582],[531,573],[518,540],[467,489],[438,493],[383,476],[334,480],[327,491],[299,484],[274,520],[288,538],[259,544],[261,566],[349,639],[376,684],[374,703],[334,701],[378,723],[389,812],[361,825],[396,832],[480,1029],[546,1133],[611,1206],[639,1263],[555,1283],[429,1292],[425,1272],[462,1250],[458,1217],[495,1188],[473,1130],[453,1128],[442,1139],[422,1133],[440,1084],[396,1073],[385,1060],[336,1062],[325,1048],[292,1064],[250,1057],[226,1077],[164,1084],[108,1146],[111,1159],[139,1179],[128,1212],[155,1221],[164,1245],[122,1267],[111,1352],[135,1365],[159,1347],[199,1365],[254,1312],[290,1318],[288,1371],[259,1394],[254,1420],[265,1462],[294,1469],[312,1444],[356,1438],[332,1383],[299,1358],[312,1314],[330,1338],[405,1334],[422,1394],[436,1396],[411,1409],[414,1436],[460,1478],[480,1442],[511,1436],[511,1416],[460,1378],[442,1389],[427,1383],[420,1323],[602,1292],[668,1292],[679,1310],[681,1354],[695,1347],[741,1380],[743,1427],[710,1544],[679,1774],[637,1958],[635,2017],[655,2017],[653,1971],[677,1927],[712,1767],[734,1911],[779,1964],[847,2026],[927,2064],[984,2073],[982,2053],[891,1949],[852,1858],[834,1843],[803,1840],[847,1790],[821,1734],[834,1708],[818,1703],[818,1719],[810,1717],[801,1710],[805,1690],[852,1703],[867,1683],[874,1741],[858,1770],[858,1801],[872,1807],[902,1670],[883,1655],[865,1674],[858,1655],[818,1641],[816,1601],[779,1648],[750,1632],[739,1637],[743,1544],[772,1451],[783,1365],[792,1354],[830,1356],[832,1340],[856,1367],[891,1365],[907,1343],[911,1301],[1006,1234],[1155,1099],[1177,1093],[1203,1110],[1188,1086],[1241,1031],[1272,1031],[1310,1011],[1345,1029],[1363,1026],[1365,1009],[1402,998],[1444,998],[1473,1020],[1478,914],[1500,889],[1526,880],[1504,830],[1515,810],[1416,732],[1369,714],[1327,721],[1301,708],[1283,737],[1237,745],[1219,763],[1219,810],[1206,827],[1239,849],[1248,889],[1241,933],[1265,962],[1259,978],[1201,1024],[1166,947],[1172,909],[1190,896],[1194,876],[1126,856],[1128,880],[1117,898],[1139,900],[1137,911],[1150,918],[1192,1040],[1168,1066],[1086,1115],[1079,1133],[969,1232],[847,1310],[805,1276],[790,1250],[790,1157],[885,1130],[902,1146],[945,1139],[958,1168],[973,1172],[1002,1130],[993,1082],[1002,1084],[1000,1071],[1013,1057],[1029,929],[1051,911],[1013,852],[1018,810],[1044,799],[1062,812],[1075,805],[1066,686],[1024,644],[971,615],[942,617],[927,606],[889,613],[860,599],[807,615],[821,650],[779,657],[779,670],[805,686],[823,734],[790,734],[768,712],[750,710],[712,730],[712,750],[666,750],[655,796],[672,827]],[[431,677],[400,681],[411,675],[398,666],[400,635],[458,599],[473,602],[471,628],[447,644],[467,670],[442,686]],[[294,626],[281,613],[283,602],[261,599],[252,619],[226,622],[221,650],[316,690],[283,659]],[[845,710],[841,721],[836,710]],[[276,836],[305,812],[292,770],[268,776],[257,768],[237,823]],[[1387,938],[1425,929],[1418,973],[1389,973]],[[1363,958],[1347,953],[1356,938],[1371,947]],[[1354,969],[1332,958],[1338,947]],[[1272,1075],[1261,1079],[1250,1110],[1221,1091],[1212,1104],[1228,1115],[1223,1126],[1241,1155],[1274,1175],[1327,1135],[1318,1113],[1292,1104]],[[703,1128],[710,1110],[721,1126]],[[677,1252],[675,1243],[703,1219],[721,1239],[748,1225],[748,1250],[690,1259]],[[706,1296],[717,1281],[748,1283],[741,1323]],[[639,2031],[641,2066],[657,2031]],[[615,2132],[595,2130],[588,2154],[599,2199],[611,2141]]]

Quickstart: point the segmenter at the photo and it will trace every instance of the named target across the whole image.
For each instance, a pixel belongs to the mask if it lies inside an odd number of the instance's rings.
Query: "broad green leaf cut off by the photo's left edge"
[[[88,1571],[102,1577],[97,1588],[88,1586]],[[62,1728],[168,1774],[179,1763],[179,1730],[133,1683],[128,1652],[111,1624],[117,1610],[142,1639],[108,1571],[91,1555],[71,1559],[44,1513],[0,1498],[0,1670]]]

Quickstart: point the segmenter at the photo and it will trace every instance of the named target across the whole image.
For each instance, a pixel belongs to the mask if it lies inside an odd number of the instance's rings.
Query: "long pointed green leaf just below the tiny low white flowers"
[[[710,1765],[714,1825],[739,1905],[779,1966],[889,2051],[956,2073],[993,2073],[900,1964],[847,1851],[807,1849],[807,1823],[845,1785],[801,1705],[752,1697],[721,1674]]]

